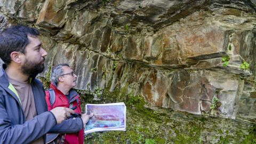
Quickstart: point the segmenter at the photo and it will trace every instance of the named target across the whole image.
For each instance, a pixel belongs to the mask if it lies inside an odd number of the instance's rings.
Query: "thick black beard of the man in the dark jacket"
[[[29,77],[36,77],[37,74],[42,73],[44,70],[44,64],[34,63],[29,60],[25,62],[25,65],[21,66],[21,71],[23,74]]]

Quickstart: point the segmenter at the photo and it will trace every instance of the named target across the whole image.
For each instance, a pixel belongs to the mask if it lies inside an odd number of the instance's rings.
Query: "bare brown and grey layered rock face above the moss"
[[[41,31],[45,73],[69,63],[76,89],[128,84],[127,93],[152,106],[256,118],[253,0],[3,0],[0,10],[0,29],[23,24]],[[239,68],[244,61],[249,69]],[[219,105],[211,107],[214,98]]]

